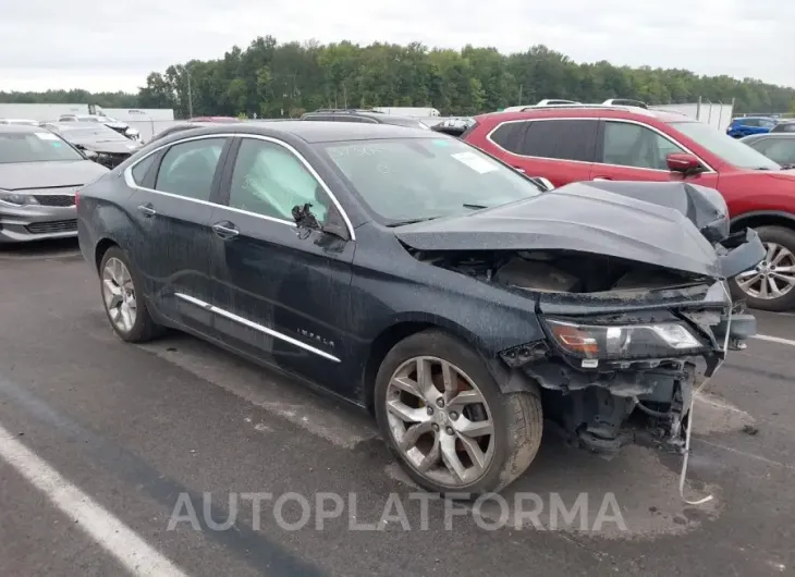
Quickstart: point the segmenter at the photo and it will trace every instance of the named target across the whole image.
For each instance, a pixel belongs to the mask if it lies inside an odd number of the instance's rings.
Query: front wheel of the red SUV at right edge
[[[735,293],[761,310],[795,308],[795,231],[761,226],[757,232],[767,250],[765,260],[734,279]]]

